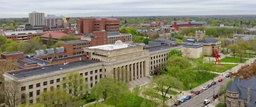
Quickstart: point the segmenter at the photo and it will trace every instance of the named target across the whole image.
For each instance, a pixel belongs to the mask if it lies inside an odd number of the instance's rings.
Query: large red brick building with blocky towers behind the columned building
[[[90,34],[93,31],[119,31],[120,21],[116,18],[90,18],[78,19],[77,30],[82,34]]]

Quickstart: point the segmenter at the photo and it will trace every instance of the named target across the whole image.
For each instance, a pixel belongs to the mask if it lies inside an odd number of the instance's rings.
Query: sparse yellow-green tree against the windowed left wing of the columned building
[[[61,81],[61,85],[66,87],[73,98],[88,92],[83,76],[76,72],[68,73],[66,79]]]

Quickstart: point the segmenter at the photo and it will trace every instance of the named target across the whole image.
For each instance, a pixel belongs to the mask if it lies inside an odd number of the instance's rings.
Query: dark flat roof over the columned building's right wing
[[[160,50],[171,49],[171,48],[174,48],[174,47],[177,47],[177,46],[178,46],[178,45],[164,44],[164,45],[157,45],[157,46],[144,47],[144,50],[149,50],[149,52],[154,52],[154,51],[160,51]]]

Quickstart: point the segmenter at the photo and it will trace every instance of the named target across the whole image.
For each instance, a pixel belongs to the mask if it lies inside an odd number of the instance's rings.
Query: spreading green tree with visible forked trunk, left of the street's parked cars
[[[168,94],[169,89],[182,89],[183,87],[183,83],[179,79],[168,75],[156,76],[153,78],[152,83],[155,84],[156,88],[162,93],[163,105],[165,105],[165,97]]]

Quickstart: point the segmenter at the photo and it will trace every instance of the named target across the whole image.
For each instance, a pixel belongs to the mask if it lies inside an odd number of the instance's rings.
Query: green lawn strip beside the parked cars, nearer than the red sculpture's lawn
[[[205,73],[199,73],[198,75],[203,75],[204,78],[196,79],[194,83],[191,83],[191,86],[190,86],[191,89],[193,89],[193,88],[195,88],[195,87],[197,87],[197,86],[199,86],[199,85],[201,85],[201,84],[211,80],[213,77],[217,77],[218,76],[217,74],[214,74],[214,73],[206,73],[206,74]],[[183,90],[189,90],[190,87],[189,86],[187,86],[187,87],[185,86],[183,88]]]

